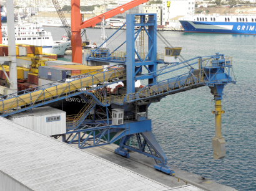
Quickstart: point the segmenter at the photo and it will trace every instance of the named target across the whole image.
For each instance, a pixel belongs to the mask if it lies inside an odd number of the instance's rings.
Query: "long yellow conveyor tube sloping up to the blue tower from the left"
[[[36,105],[38,102],[43,102],[46,99],[57,99],[57,96],[65,96],[73,93],[76,90],[82,90],[97,83],[104,83],[114,78],[125,78],[125,68],[115,68],[106,72],[96,73],[89,77],[80,78],[71,82],[62,83],[60,85],[51,86],[42,90],[32,91],[23,95],[15,96],[6,100],[0,101],[0,112],[9,113],[10,109],[19,108],[26,105]]]

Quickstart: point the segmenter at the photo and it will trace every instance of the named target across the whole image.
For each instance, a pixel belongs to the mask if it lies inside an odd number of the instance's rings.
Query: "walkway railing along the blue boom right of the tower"
[[[129,93],[126,96],[126,99],[127,101],[132,101],[140,98],[149,98],[151,96],[161,95],[174,90],[179,90],[181,88],[189,87],[199,82],[200,82],[200,78],[199,78],[199,75],[197,75],[197,76],[189,77],[177,82],[166,83],[165,85],[162,85],[162,86],[155,86],[154,88],[150,88],[148,90],[142,90],[137,93]]]

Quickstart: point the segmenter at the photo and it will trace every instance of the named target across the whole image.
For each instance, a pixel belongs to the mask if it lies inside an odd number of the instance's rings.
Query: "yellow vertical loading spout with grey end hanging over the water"
[[[214,159],[223,159],[226,155],[225,140],[221,136],[221,115],[222,110],[221,100],[215,100],[215,137],[212,138],[212,147],[214,149]]]

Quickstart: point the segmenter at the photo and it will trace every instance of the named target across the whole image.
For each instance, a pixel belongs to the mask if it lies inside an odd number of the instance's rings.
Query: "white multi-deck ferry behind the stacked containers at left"
[[[8,44],[7,26],[2,26],[1,29],[2,44]],[[39,24],[18,24],[15,27],[15,42],[16,44],[42,46],[42,52],[57,54],[58,57],[63,57],[71,45],[70,40],[63,37],[59,41],[54,41],[51,32],[44,31]]]

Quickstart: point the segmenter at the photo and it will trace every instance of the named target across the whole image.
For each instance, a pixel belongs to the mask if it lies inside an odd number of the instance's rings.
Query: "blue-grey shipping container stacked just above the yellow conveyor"
[[[38,77],[51,81],[59,81],[71,75],[71,70],[54,67],[38,67]]]

